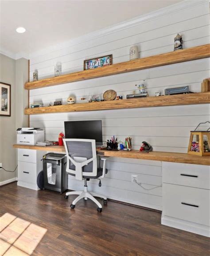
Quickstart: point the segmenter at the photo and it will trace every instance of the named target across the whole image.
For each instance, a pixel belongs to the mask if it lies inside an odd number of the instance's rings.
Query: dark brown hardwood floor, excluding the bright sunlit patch
[[[47,233],[33,256],[210,256],[210,239],[160,224],[161,213],[108,201],[102,213],[81,200],[11,183],[0,187],[0,216],[11,213]]]

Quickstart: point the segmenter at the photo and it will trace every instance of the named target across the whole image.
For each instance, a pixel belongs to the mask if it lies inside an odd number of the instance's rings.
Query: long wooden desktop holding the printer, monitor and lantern
[[[13,145],[13,148],[66,153],[64,146],[41,147],[41,146],[28,146],[28,145],[16,144],[16,145]],[[97,154],[100,156],[116,157],[116,158],[134,158],[134,159],[144,159],[144,160],[186,163],[186,164],[194,164],[194,165],[210,165],[210,158],[208,157],[192,156],[185,153],[152,151],[152,152],[149,152],[148,154],[144,154],[144,153],[140,153],[138,150],[109,151],[109,150],[97,149]]]

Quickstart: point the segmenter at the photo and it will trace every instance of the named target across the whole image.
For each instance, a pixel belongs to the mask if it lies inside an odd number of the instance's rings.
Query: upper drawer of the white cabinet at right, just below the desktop
[[[163,162],[163,182],[210,189],[210,166]]]

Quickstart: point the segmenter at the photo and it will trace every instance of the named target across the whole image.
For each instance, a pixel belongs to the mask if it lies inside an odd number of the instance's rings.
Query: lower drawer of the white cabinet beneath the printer
[[[18,180],[36,184],[36,164],[18,161]]]

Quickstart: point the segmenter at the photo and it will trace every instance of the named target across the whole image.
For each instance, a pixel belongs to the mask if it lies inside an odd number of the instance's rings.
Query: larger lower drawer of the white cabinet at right
[[[163,214],[210,225],[210,190],[163,183]]]

